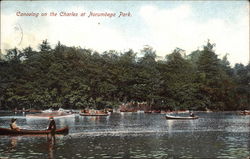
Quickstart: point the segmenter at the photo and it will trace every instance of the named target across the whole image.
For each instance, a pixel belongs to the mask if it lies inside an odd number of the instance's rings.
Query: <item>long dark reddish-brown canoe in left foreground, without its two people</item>
[[[69,133],[69,128],[64,127],[61,129],[57,129],[56,134],[67,134]],[[12,130],[8,128],[0,128],[0,135],[42,135],[42,134],[50,134],[50,130],[25,130],[20,129],[20,131]]]

